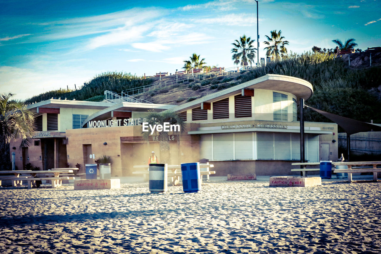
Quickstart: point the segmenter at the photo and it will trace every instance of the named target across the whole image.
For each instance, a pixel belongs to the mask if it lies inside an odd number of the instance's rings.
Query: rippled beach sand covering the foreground
[[[0,188],[0,253],[381,253],[381,182]]]

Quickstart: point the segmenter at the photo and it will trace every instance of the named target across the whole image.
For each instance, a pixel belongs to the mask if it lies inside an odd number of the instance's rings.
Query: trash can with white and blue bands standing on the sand
[[[168,164],[149,164],[149,191],[166,193],[168,190]]]

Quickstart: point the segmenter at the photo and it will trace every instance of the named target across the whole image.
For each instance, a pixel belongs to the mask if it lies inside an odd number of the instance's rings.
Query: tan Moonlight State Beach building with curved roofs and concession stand
[[[293,175],[291,163],[300,161],[297,101],[307,100],[312,85],[290,76],[267,74],[181,104],[47,100],[29,105],[37,113],[34,144],[18,149],[16,166],[30,162],[41,169],[94,163],[111,156],[112,176],[129,176],[134,165],[148,163],[151,151],[160,162],[156,136],[142,138],[148,112],[173,111],[186,121],[186,132],[170,133],[170,162],[208,159],[216,175]],[[305,122],[305,159],[338,158],[338,125]],[[173,135],[172,135],[173,134]],[[12,148],[17,147],[12,150]]]

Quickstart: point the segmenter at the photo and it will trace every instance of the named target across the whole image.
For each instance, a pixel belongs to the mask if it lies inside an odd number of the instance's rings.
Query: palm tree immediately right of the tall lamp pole
[[[267,50],[266,56],[271,56],[272,60],[280,60],[281,57],[284,57],[285,54],[287,54],[287,48],[285,45],[288,45],[288,41],[283,40],[285,39],[284,36],[280,36],[282,33],[280,30],[279,32],[273,30],[270,33],[271,37],[265,35],[267,41],[263,42],[264,44],[269,45],[268,47],[264,48],[264,50]]]

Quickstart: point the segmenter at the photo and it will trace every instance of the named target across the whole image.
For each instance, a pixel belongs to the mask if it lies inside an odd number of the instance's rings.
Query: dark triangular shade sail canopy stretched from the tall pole
[[[335,122],[341,128],[343,128],[344,131],[349,135],[352,135],[352,134],[357,133],[357,132],[368,132],[371,130],[381,131],[381,126],[376,125],[376,124],[369,124],[367,122],[357,121],[357,120],[354,120],[354,119],[351,119],[348,117],[338,116],[338,115],[335,115],[332,113],[322,111],[320,109],[312,108],[312,107],[307,106],[307,105],[306,105],[306,107],[316,111],[319,114],[322,114],[323,116],[327,117],[331,121]]]

